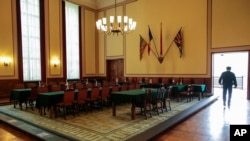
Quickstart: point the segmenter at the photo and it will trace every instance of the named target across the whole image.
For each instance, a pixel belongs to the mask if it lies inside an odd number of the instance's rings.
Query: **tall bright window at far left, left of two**
[[[41,80],[39,0],[21,0],[24,81]]]

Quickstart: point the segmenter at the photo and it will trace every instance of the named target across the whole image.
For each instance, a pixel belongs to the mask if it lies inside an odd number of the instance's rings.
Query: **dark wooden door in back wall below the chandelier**
[[[124,61],[123,59],[107,60],[107,80],[115,81],[115,78],[124,77]]]

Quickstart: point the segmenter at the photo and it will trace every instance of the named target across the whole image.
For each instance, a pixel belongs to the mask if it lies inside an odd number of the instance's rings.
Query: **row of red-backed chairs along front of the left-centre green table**
[[[112,91],[118,91],[117,86],[113,87]],[[82,111],[92,112],[94,109],[102,109],[110,106],[110,87],[94,87],[91,90],[90,97],[86,88],[78,89],[77,98],[75,99],[74,90],[65,90],[63,101],[56,104],[55,117],[58,116],[58,111],[62,109],[63,117],[66,119],[68,114],[80,114]]]

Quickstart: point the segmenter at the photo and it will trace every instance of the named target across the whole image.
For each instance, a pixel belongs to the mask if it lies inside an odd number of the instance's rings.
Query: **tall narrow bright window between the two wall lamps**
[[[67,79],[80,78],[79,63],[79,8],[77,5],[66,2],[66,63]]]

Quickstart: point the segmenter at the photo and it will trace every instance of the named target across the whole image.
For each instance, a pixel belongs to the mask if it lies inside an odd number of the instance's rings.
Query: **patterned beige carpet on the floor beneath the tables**
[[[137,108],[135,120],[131,120],[130,117],[131,104],[117,106],[115,117],[112,116],[111,108],[104,108],[92,113],[81,113],[75,117],[68,115],[66,120],[63,117],[50,119],[48,116],[40,116],[37,110],[20,110],[13,108],[13,105],[1,106],[0,112],[71,140],[120,141],[129,140],[205,99],[201,101],[194,99],[188,103],[172,101],[171,111],[160,115],[155,113],[152,118],[148,119],[140,115],[140,109]]]

